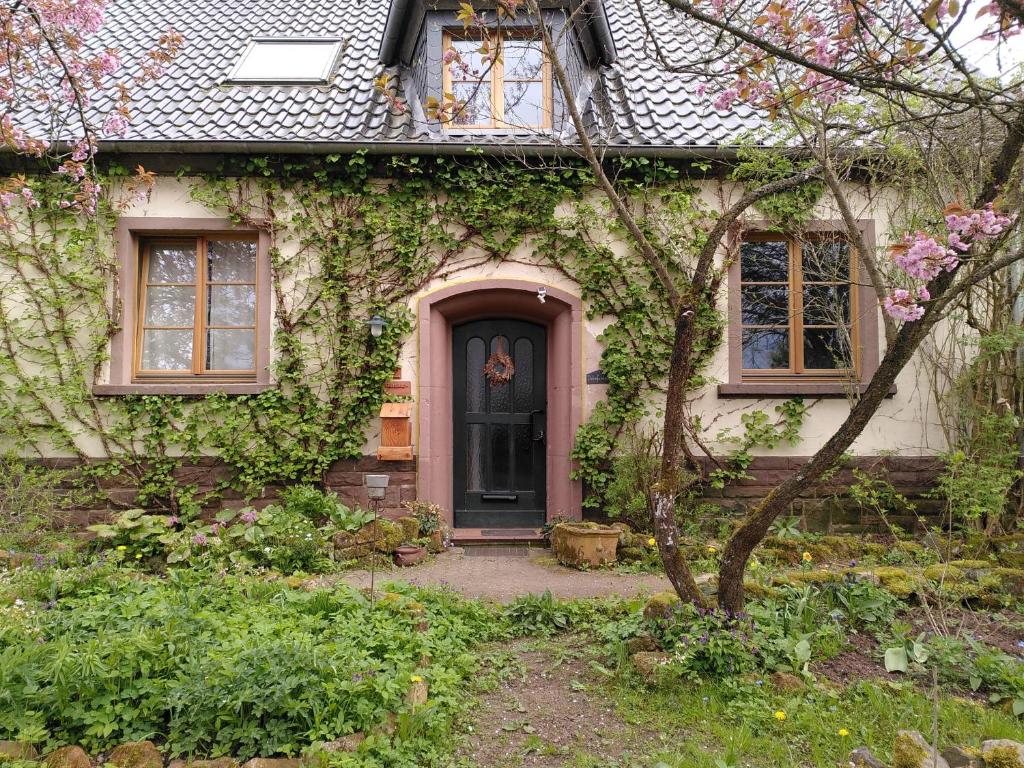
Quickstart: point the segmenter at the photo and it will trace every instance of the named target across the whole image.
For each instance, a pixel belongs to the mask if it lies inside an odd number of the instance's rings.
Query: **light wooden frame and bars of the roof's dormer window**
[[[538,40],[537,36],[531,34],[530,30],[516,30],[514,28],[510,29],[508,27],[502,29],[489,29],[487,31],[488,40],[492,45],[498,45],[500,42],[505,40]],[[452,48],[452,44],[456,41],[473,41],[476,42],[476,38],[472,35],[467,35],[462,30],[452,30],[445,29],[441,34],[441,89],[445,94],[452,94],[455,96],[455,83],[475,83],[476,80],[455,80],[452,77],[452,67],[450,65],[443,63],[443,54]],[[549,130],[552,126],[552,116],[554,114],[554,88],[552,85],[552,74],[551,74],[551,60],[548,58],[547,53],[542,49],[541,55],[544,57],[544,66],[541,69],[541,78],[511,78],[506,80],[505,78],[505,57],[504,54],[499,56],[498,60],[495,61],[490,71],[487,73],[487,80],[480,80],[479,87],[490,89],[490,121],[487,123],[454,123],[451,120],[443,121],[442,125],[445,130],[517,130],[517,129],[529,129],[529,130]],[[515,123],[508,123],[505,121],[505,83],[537,83],[542,84],[542,89],[544,92],[544,104],[541,110],[543,121],[539,125],[518,125]]]

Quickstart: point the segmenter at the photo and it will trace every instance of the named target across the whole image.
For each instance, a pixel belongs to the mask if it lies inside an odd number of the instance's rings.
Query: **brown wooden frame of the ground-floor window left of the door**
[[[138,309],[136,312],[136,326],[135,326],[135,356],[133,364],[133,380],[134,381],[145,381],[148,379],[160,379],[163,381],[193,381],[198,378],[211,379],[216,381],[256,381],[256,369],[255,367],[246,371],[242,370],[210,370],[206,368],[206,354],[207,354],[207,332],[216,331],[218,329],[224,330],[239,330],[239,331],[252,331],[253,332],[253,362],[256,361],[256,349],[255,344],[257,343],[257,326],[259,324],[259,270],[256,268],[257,265],[253,264],[254,276],[252,283],[250,282],[225,282],[225,281],[212,281],[209,280],[207,273],[209,272],[209,245],[211,241],[240,241],[252,243],[256,246],[258,252],[259,242],[258,239],[252,234],[196,234],[189,238],[183,237],[150,237],[145,238],[139,244],[139,271],[138,271]],[[196,304],[193,316],[191,332],[193,332],[193,365],[191,371],[151,371],[144,370],[142,368],[142,346],[144,342],[145,331],[150,330],[185,330],[186,326],[148,326],[145,323],[145,300],[146,293],[150,287],[150,282],[147,280],[150,273],[150,254],[152,247],[155,244],[194,244],[196,247],[196,275],[191,283],[161,283],[154,285],[169,285],[169,286],[182,286],[191,287],[195,289],[196,294]],[[258,256],[258,254],[257,254]],[[211,325],[207,321],[207,289],[210,286],[221,286],[221,285],[236,285],[236,286],[253,286],[255,289],[254,293],[256,296],[256,305],[253,307],[253,325],[252,326],[215,326]]]

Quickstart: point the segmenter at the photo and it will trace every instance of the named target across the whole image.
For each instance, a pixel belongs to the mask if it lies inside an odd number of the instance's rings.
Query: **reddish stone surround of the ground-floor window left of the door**
[[[92,385],[94,394],[255,394],[273,386],[269,372],[272,319],[269,233],[217,217],[125,216],[118,220],[114,236],[120,266],[115,283],[120,323],[119,330],[111,339],[109,371],[102,380]],[[157,372],[154,376],[137,376],[138,327],[144,306],[140,296],[140,285],[144,279],[142,246],[147,240],[195,240],[200,237],[256,240],[256,371],[243,372],[241,376],[238,375],[240,372],[233,371],[226,375]]]

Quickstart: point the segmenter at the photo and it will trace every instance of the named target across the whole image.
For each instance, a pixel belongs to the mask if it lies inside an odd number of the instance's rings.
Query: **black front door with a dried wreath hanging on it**
[[[456,527],[541,526],[547,329],[486,319],[452,337]]]

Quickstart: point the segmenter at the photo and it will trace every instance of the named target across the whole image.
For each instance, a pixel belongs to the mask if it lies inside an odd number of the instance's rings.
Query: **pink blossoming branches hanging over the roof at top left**
[[[85,213],[95,211],[101,191],[93,164],[98,139],[124,134],[130,85],[159,77],[181,43],[168,31],[124,74],[121,52],[95,42],[105,6],[13,0],[0,7],[0,142],[49,165],[65,182],[59,205]],[[16,205],[39,205],[25,177],[0,189],[0,224]]]

